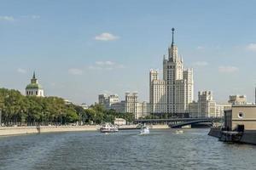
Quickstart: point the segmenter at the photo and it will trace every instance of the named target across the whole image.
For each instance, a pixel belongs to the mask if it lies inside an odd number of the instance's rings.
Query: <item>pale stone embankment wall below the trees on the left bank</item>
[[[76,131],[96,131],[96,126],[40,126],[40,127],[0,127],[0,136],[32,134],[32,133],[57,133]]]

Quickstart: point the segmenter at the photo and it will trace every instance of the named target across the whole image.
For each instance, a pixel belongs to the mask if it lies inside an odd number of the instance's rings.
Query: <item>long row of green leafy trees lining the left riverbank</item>
[[[79,105],[65,105],[58,97],[23,96],[17,90],[0,88],[0,110],[2,123],[10,125],[63,125],[75,122],[113,122],[115,117],[134,122],[131,113],[118,113],[106,110],[102,105],[91,105],[84,110]]]

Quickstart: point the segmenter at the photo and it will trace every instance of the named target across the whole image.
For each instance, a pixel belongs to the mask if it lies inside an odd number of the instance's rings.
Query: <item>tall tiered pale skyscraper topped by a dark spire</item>
[[[149,103],[152,114],[169,113],[183,116],[188,113],[189,103],[194,97],[193,70],[183,68],[183,59],[177,54],[172,28],[172,45],[168,48],[168,57],[163,59],[163,80],[159,72],[149,73]]]

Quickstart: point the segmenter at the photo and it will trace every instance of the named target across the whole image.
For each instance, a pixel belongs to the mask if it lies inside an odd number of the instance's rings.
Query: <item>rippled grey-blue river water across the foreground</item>
[[[209,129],[0,137],[0,169],[256,169],[256,146],[224,144]]]

